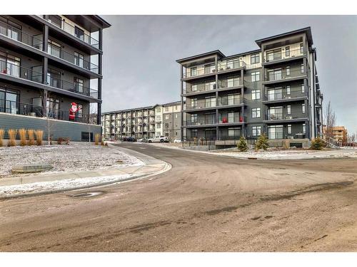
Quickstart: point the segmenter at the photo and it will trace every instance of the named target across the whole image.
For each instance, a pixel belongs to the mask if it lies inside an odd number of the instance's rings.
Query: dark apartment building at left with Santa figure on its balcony
[[[51,121],[54,139],[76,141],[100,133],[109,26],[94,15],[1,15],[0,127],[40,129],[46,138]]]

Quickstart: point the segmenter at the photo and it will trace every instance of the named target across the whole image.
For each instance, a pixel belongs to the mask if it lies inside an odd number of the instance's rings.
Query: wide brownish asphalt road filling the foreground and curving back
[[[121,144],[156,177],[0,202],[0,251],[357,251],[357,160],[245,160]]]

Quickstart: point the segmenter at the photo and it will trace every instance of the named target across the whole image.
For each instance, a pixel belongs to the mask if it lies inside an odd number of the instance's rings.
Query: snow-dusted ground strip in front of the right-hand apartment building
[[[246,159],[248,157],[256,157],[257,159],[316,159],[316,158],[336,158],[336,157],[357,157],[356,150],[277,150],[277,151],[248,151],[239,152],[233,150],[215,150],[213,152],[218,155],[226,155]]]

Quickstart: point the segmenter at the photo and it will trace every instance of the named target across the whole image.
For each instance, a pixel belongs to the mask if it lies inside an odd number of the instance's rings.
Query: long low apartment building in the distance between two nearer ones
[[[102,114],[102,131],[107,140],[123,137],[180,139],[181,101]],[[176,138],[177,137],[177,138]]]

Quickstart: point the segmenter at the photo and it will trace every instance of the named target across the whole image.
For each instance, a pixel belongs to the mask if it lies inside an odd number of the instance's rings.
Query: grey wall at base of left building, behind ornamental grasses
[[[79,122],[67,122],[63,120],[49,120],[51,123],[52,140],[58,137],[69,137],[71,141],[81,141],[82,132],[92,132],[93,136],[101,134],[100,125],[86,125]],[[5,131],[9,129],[33,129],[44,130],[44,140],[47,139],[47,120],[41,117],[30,117],[25,115],[14,115],[0,113],[0,128]],[[7,138],[7,133],[5,135]],[[86,141],[86,140],[85,140]]]

